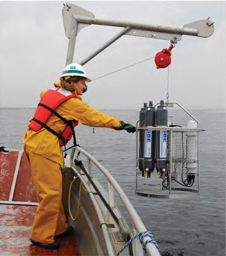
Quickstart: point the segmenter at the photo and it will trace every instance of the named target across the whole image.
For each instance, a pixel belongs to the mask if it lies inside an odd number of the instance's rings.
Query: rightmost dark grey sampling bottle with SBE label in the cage
[[[156,110],[156,126],[167,127],[168,111],[161,101]],[[157,131],[156,136],[156,170],[163,173],[167,170],[167,130]]]

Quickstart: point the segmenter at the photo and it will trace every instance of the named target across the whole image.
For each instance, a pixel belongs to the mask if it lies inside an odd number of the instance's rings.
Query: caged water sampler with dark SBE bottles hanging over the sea
[[[176,125],[168,108],[178,106],[190,119]],[[200,193],[198,120],[177,102],[163,100],[139,111],[136,134],[136,195],[188,198]],[[143,178],[150,178],[145,185]]]

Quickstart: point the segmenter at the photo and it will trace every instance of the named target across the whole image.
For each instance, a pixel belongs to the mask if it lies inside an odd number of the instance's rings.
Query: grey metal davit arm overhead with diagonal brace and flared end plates
[[[181,27],[159,26],[152,24],[138,23],[134,21],[114,21],[109,19],[96,19],[92,12],[75,6],[72,3],[67,3],[63,7],[63,24],[65,35],[69,39],[68,54],[66,65],[73,63],[74,48],[76,36],[82,28],[89,25],[114,26],[123,28],[117,35],[105,42],[103,46],[95,50],[91,55],[80,62],[81,65],[88,63],[92,58],[110,46],[114,41],[121,38],[123,35],[136,37],[149,37],[152,39],[165,39],[170,41],[180,41],[182,35],[190,35],[194,37],[210,37],[214,32],[214,22],[208,19],[195,21]]]

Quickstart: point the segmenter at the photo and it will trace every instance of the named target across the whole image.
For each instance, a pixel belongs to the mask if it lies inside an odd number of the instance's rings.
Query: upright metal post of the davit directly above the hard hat
[[[67,59],[66,59],[66,66],[70,63],[73,63],[77,27],[78,27],[78,23],[77,23],[76,19],[72,19],[71,30],[70,30],[70,39],[68,42],[68,53],[67,53]]]

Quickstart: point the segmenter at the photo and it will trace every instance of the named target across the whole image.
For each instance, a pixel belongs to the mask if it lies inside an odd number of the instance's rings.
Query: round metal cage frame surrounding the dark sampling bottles
[[[159,104],[159,103],[158,103]],[[155,106],[157,106],[158,104],[156,104]],[[179,128],[179,127],[152,127],[152,126],[148,126],[148,127],[138,127],[138,122],[136,124],[136,187],[135,187],[135,194],[136,195],[141,195],[143,197],[158,197],[158,198],[171,198],[171,199],[182,199],[182,198],[190,198],[190,197],[194,197],[194,196],[197,196],[201,193],[201,190],[200,190],[200,168],[199,168],[199,161],[197,161],[197,174],[196,176],[198,177],[198,181],[197,181],[197,188],[194,189],[194,188],[183,188],[183,187],[180,187],[180,188],[176,188],[176,187],[173,187],[172,186],[172,165],[173,165],[173,161],[172,161],[172,144],[173,144],[173,134],[174,132],[196,132],[196,135],[197,135],[197,157],[198,157],[198,160],[199,160],[199,132],[203,132],[205,130],[201,129],[201,128],[198,128],[199,126],[199,123],[198,123],[198,120],[191,114],[189,113],[185,108],[183,108],[183,106],[181,106],[180,104],[178,104],[177,102],[170,102],[170,103],[167,103],[165,104],[165,106],[168,106],[168,107],[173,107],[174,104],[176,104],[177,106],[179,106],[184,112],[187,113],[187,115],[189,115],[189,117],[192,117],[192,119],[196,122],[196,125],[197,125],[197,128],[187,128],[187,127],[182,127],[182,128]],[[145,130],[152,130],[152,131],[161,131],[161,130],[167,130],[167,136],[170,137],[170,139],[168,140],[168,149],[169,152],[168,152],[168,161],[169,161],[169,188],[167,189],[163,189],[163,187],[161,186],[161,183],[162,181],[160,180],[159,183],[160,183],[160,186],[156,187],[156,184],[154,184],[152,186],[152,184],[149,184],[147,186],[147,188],[140,188],[138,187],[138,177],[141,176],[141,170],[139,170],[138,168],[138,155],[139,155],[139,143],[138,143],[138,133],[141,132],[141,131],[145,131]],[[143,178],[144,179],[144,178]],[[152,177],[150,178],[152,179]],[[147,179],[145,179],[145,181],[147,181]],[[164,191],[163,191],[164,190]],[[184,193],[177,193],[177,194],[174,194],[172,193],[172,191],[181,191],[181,192],[184,192]]]

